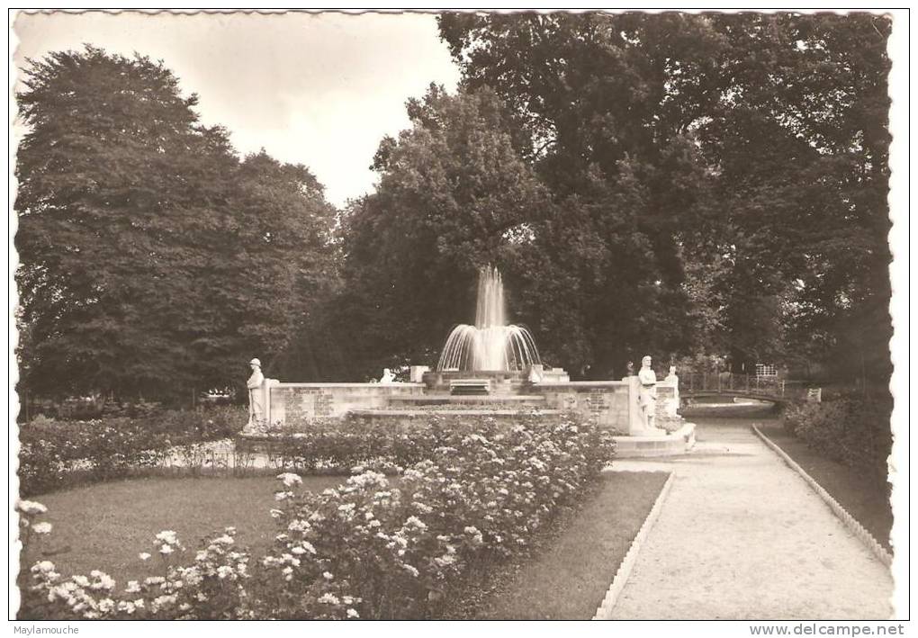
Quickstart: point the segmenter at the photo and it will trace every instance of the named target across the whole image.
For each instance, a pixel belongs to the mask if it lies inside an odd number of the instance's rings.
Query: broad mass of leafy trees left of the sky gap
[[[281,353],[330,259],[334,211],[315,177],[264,155],[240,163],[146,57],[51,53],[24,84],[24,383],[186,393]]]

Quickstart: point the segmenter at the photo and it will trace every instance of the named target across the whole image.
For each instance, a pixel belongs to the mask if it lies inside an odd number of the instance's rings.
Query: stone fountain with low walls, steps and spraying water
[[[347,418],[398,428],[439,415],[487,416],[512,425],[521,414],[552,420],[572,412],[617,432],[620,455],[685,453],[694,443],[694,425],[683,424],[676,413],[676,375],[654,378],[658,400],[648,403],[641,400],[638,376],[572,382],[563,369],[545,366],[530,331],[508,323],[503,281],[493,266],[478,273],[475,323],[453,328],[435,369],[411,366],[409,383],[391,376],[369,384],[265,379],[252,392],[261,393],[262,424]],[[654,406],[651,413],[648,405]],[[654,427],[657,414],[674,431]]]

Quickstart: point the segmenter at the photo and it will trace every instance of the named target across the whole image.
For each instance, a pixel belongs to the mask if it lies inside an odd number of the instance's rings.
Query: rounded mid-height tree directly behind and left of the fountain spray
[[[447,95],[431,85],[408,112],[412,128],[376,153],[375,194],[342,224],[339,334],[360,375],[435,363],[452,326],[474,319],[476,269],[509,263],[546,215],[543,188],[492,92]],[[526,294],[513,290],[514,299]]]

